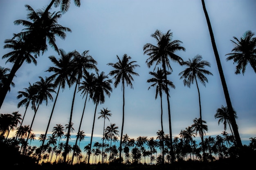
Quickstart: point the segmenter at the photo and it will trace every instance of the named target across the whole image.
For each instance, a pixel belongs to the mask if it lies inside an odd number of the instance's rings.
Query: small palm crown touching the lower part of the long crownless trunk
[[[234,115],[235,115],[235,118],[237,119],[238,117],[236,115],[236,111],[235,110],[234,110]],[[227,124],[228,124],[229,128],[230,128],[230,131],[231,131],[232,135],[234,136],[233,131],[232,131],[231,126],[230,126],[230,115],[229,115],[229,111],[228,111],[227,106],[224,107],[223,105],[221,105],[221,108],[218,108],[216,110],[214,118],[215,119],[219,119],[218,125],[220,125],[220,123],[223,122],[224,130],[227,130]]]

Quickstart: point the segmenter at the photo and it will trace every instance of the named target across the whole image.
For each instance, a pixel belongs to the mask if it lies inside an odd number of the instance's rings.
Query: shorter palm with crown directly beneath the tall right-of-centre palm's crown
[[[162,92],[166,92],[168,91],[168,85],[171,86],[172,88],[175,88],[175,85],[173,84],[173,82],[171,82],[170,80],[165,80],[164,78],[164,71],[160,68],[157,68],[157,72],[149,72],[150,75],[153,75],[153,78],[148,79],[147,82],[148,83],[153,83],[152,85],[150,85],[148,87],[148,90],[150,89],[150,87],[154,87],[156,86],[156,92],[155,92],[155,99],[157,99],[157,95],[159,94],[160,96],[160,101],[161,101],[161,128],[162,128],[162,132],[164,132],[164,128],[163,128],[163,107],[162,107]],[[171,72],[167,71],[166,72],[167,75],[170,75]]]

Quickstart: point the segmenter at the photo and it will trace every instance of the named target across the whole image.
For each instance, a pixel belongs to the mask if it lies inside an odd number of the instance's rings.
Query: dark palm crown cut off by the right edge
[[[252,31],[246,31],[244,35],[238,40],[238,38],[233,37],[237,42],[231,40],[234,44],[232,52],[226,55],[228,60],[234,60],[234,63],[237,63],[236,74],[240,74],[241,70],[244,75],[245,68],[249,63],[254,72],[256,73],[256,37],[253,38],[255,34]]]

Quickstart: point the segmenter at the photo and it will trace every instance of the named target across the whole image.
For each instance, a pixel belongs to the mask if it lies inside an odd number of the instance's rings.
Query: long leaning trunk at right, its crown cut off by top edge
[[[230,97],[229,97],[229,91],[227,89],[227,84],[226,84],[224,73],[223,73],[223,70],[222,70],[221,63],[220,63],[220,57],[219,57],[219,54],[218,54],[218,50],[217,50],[215,40],[214,40],[213,31],[212,31],[212,28],[211,28],[211,22],[210,22],[210,19],[209,19],[209,16],[208,16],[208,13],[207,13],[207,10],[206,10],[206,7],[205,7],[204,0],[202,0],[202,7],[203,7],[203,10],[204,10],[204,15],[205,15],[207,25],[208,25],[208,29],[209,29],[209,33],[210,33],[211,44],[213,46],[214,55],[215,55],[218,70],[219,70],[219,73],[220,73],[220,79],[221,79],[225,99],[226,99],[226,102],[227,102],[227,107],[228,107],[229,113],[231,113],[230,114],[231,126],[232,126],[233,131],[234,131],[234,135],[235,135],[235,139],[236,139],[236,145],[238,147],[242,147],[243,145],[242,145],[242,141],[241,141],[241,138],[240,138],[240,135],[239,135],[239,132],[238,132],[238,127],[237,127],[237,124],[236,124],[236,118],[234,116],[234,110],[233,110],[231,100],[230,100]]]

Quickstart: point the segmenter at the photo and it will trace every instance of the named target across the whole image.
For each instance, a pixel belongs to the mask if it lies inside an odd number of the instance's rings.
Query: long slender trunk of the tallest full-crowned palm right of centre
[[[162,66],[163,66],[163,70],[164,70],[164,79],[167,82],[166,66],[165,66],[165,61],[164,60],[162,60]],[[168,87],[166,87],[166,89],[168,89]],[[167,97],[167,105],[168,105],[168,121],[169,121],[169,132],[170,132],[171,162],[174,162],[175,161],[175,155],[174,155],[174,151],[173,151],[173,139],[172,139],[172,130],[171,130],[171,107],[170,107],[170,100],[169,100],[168,90],[166,91],[166,97]]]

